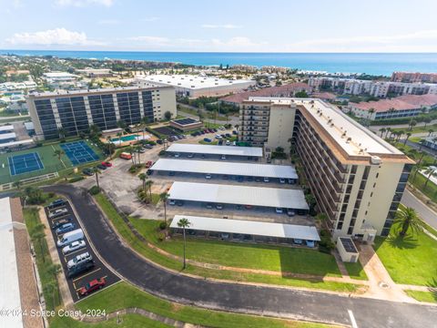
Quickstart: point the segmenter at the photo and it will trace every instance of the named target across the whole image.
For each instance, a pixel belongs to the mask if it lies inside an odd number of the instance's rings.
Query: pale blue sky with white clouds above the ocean
[[[436,0],[0,0],[0,48],[437,52]]]

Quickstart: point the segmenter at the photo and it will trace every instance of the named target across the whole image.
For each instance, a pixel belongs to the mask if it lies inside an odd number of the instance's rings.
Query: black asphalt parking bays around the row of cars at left
[[[76,214],[72,210],[71,204],[69,202],[67,202],[66,205],[64,205],[64,206],[56,208],[56,210],[57,209],[66,209],[68,211],[66,212],[66,214],[63,214],[62,216],[56,217],[56,219],[50,219],[49,212],[53,211],[53,210],[48,210],[47,207],[45,208],[46,217],[47,217],[47,220],[48,220],[51,227],[53,227],[58,220],[66,219],[75,225],[75,229],[82,228],[79,221],[77,220]],[[53,238],[55,241],[58,241],[64,235],[64,234],[56,234],[55,229],[51,229],[51,231],[52,231],[52,235],[53,235]],[[69,252],[66,255],[62,251],[62,247],[57,248],[57,253],[59,255],[59,259],[61,261],[63,272],[64,272],[63,278],[66,279],[66,282],[68,284],[68,288],[71,292],[71,296],[72,296],[74,302],[77,302],[80,299],[83,299],[84,297],[86,297],[86,296],[79,295],[78,291],[82,286],[85,286],[86,283],[88,283],[88,282],[91,282],[95,279],[104,278],[106,280],[106,284],[103,288],[106,288],[107,286],[110,286],[111,284],[118,282],[120,280],[120,278],[118,278],[118,276],[115,273],[111,272],[105,266],[105,264],[98,259],[95,251],[92,249],[92,247],[90,247],[88,239],[86,238],[86,235],[84,236],[83,240],[86,242],[86,245],[84,248]],[[84,252],[88,252],[92,256],[93,261],[94,261],[94,266],[92,268],[90,268],[89,270],[87,270],[86,272],[82,272],[80,274],[77,274],[73,278],[68,278],[67,277],[66,263],[68,261],[72,260],[73,258],[75,258],[76,255],[82,254]]]

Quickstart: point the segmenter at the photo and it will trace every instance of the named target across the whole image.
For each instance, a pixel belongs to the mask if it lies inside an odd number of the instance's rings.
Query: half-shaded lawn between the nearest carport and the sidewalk
[[[183,256],[183,241],[180,237],[174,236],[168,241],[158,241],[158,220],[130,221],[147,241],[156,244],[162,250]],[[341,276],[333,256],[303,248],[188,238],[187,257],[195,261],[239,268]]]

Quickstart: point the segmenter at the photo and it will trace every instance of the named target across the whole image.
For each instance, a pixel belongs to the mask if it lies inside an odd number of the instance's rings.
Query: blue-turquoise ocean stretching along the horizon
[[[330,73],[390,76],[394,71],[437,72],[437,53],[198,53],[73,50],[0,50],[0,54],[96,59],[132,59],[191,65],[276,66]]]

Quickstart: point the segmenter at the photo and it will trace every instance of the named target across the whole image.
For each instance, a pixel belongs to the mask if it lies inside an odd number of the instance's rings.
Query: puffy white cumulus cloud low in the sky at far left
[[[66,28],[55,28],[40,32],[15,33],[7,38],[10,45],[38,46],[102,46],[103,43],[89,40],[84,32],[69,31]]]

